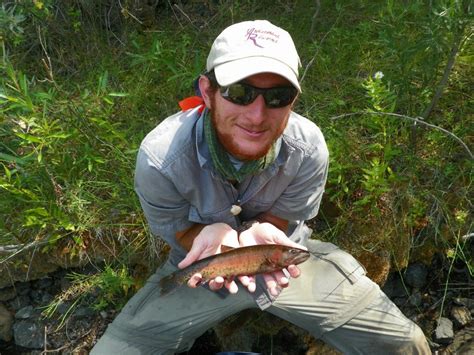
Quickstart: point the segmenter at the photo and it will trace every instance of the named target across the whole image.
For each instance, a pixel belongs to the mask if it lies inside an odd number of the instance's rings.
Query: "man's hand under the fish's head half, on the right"
[[[283,231],[270,223],[255,223],[252,227],[240,234],[239,243],[240,246],[281,244],[305,249],[303,246],[290,240]],[[285,272],[287,272],[287,274],[285,274]],[[290,265],[282,271],[264,274],[263,278],[270,293],[277,296],[280,288],[288,287],[289,277],[298,277],[299,275],[300,269],[296,265]],[[255,285],[255,276],[242,276],[240,281],[244,286],[246,286],[246,284]]]

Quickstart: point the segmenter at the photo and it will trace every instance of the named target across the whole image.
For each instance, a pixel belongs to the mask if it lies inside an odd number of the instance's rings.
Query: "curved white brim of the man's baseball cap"
[[[220,86],[234,84],[251,75],[274,73],[288,79],[301,92],[296,73],[286,64],[269,57],[247,57],[225,62],[214,67],[217,83]]]

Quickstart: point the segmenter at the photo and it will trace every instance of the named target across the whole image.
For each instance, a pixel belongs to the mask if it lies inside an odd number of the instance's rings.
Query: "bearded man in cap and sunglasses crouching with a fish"
[[[343,353],[429,354],[422,331],[330,243],[310,240],[326,182],[319,128],[292,112],[301,92],[290,35],[268,21],[226,28],[199,78],[202,105],[144,139],[135,187],[169,259],[129,301],[93,354],[173,354],[226,317],[260,308]],[[198,102],[199,104],[199,102]],[[216,277],[160,294],[159,280],[225,246],[308,248],[299,266],[237,280]]]

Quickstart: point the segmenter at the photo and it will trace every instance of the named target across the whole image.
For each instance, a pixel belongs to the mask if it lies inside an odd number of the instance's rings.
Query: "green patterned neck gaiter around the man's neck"
[[[212,163],[216,170],[227,180],[242,182],[249,175],[256,175],[267,168],[276,159],[275,143],[272,145],[267,155],[257,159],[246,161],[236,169],[230,161],[229,155],[217,138],[216,130],[212,125],[211,116],[206,109],[204,115],[204,137],[206,138],[209,151],[211,153]]]

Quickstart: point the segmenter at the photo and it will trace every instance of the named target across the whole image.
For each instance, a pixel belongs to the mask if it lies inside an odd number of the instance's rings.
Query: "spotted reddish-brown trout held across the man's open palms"
[[[235,276],[274,272],[289,265],[301,264],[308,258],[307,250],[285,245],[261,244],[240,247],[197,260],[188,267],[163,277],[159,287],[161,294],[165,295],[187,283],[196,273],[201,274],[202,283],[206,283],[217,276],[230,279]]]

